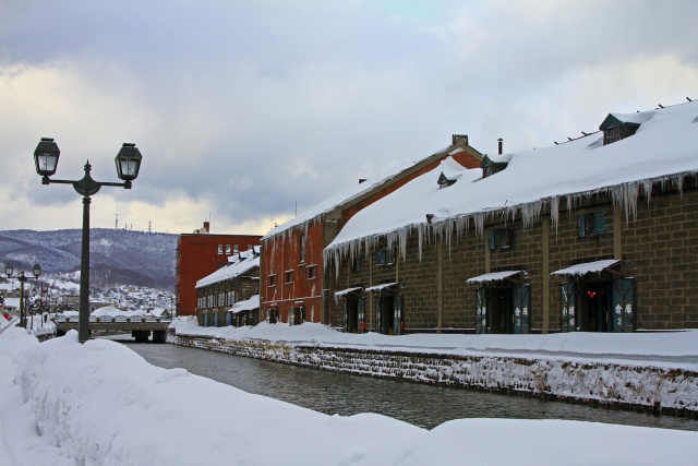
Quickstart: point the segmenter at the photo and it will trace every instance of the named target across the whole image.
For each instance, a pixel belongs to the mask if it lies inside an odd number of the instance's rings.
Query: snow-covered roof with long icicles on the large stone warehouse
[[[508,162],[506,169],[486,178],[480,169],[464,170],[453,186],[440,189],[437,180],[453,160],[443,163],[358,212],[325,249],[325,261],[358,254],[381,237],[387,237],[388,247],[398,243],[405,256],[407,235],[417,230],[421,249],[428,223],[450,237],[467,230],[472,219],[481,232],[485,218],[496,212],[512,217],[520,213],[528,227],[547,203],[556,226],[561,199],[574,205],[597,193],[610,194],[628,218],[636,214],[638,196],[651,194],[653,182],[681,187],[684,176],[698,172],[698,101],[614,115],[626,120],[631,116],[641,126],[634,135],[607,145],[598,132],[504,154],[496,162]]]

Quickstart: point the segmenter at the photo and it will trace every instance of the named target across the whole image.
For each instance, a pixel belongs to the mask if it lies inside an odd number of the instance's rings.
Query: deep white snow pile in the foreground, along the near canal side
[[[8,330],[0,353],[9,464],[655,465],[698,456],[698,432],[494,419],[428,431],[373,414],[327,416],[156,368],[113,342],[81,345],[76,332],[38,344]],[[492,447],[504,440],[507,447]]]

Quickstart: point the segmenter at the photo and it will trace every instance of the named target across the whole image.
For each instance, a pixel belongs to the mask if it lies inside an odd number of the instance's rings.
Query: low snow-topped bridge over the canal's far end
[[[56,319],[56,333],[65,335],[68,331],[77,330],[77,316],[69,319]],[[171,319],[119,319],[119,318],[89,318],[89,335],[117,335],[131,333],[136,343],[165,343],[167,328],[172,323]],[[153,338],[151,338],[151,334]]]

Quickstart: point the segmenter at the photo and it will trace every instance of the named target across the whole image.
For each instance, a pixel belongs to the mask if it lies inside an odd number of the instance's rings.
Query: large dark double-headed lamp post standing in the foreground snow
[[[115,158],[117,176],[122,183],[95,181],[89,176],[92,165],[85,164],[85,176],[82,180],[52,180],[56,174],[60,151],[51,138],[41,138],[41,142],[34,151],[36,172],[41,177],[41,184],[61,183],[72,184],[79,194],[83,195],[83,239],[80,261],[80,313],[77,323],[77,339],[85,343],[89,339],[89,203],[91,195],[96,194],[101,187],[120,187],[131,189],[131,181],[135,180],[141,169],[143,156],[135,144],[124,143]]]

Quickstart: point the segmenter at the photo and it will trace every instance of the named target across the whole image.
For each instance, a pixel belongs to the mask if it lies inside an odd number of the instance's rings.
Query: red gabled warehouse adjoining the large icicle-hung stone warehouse
[[[291,325],[305,321],[329,323],[329,300],[334,298],[328,290],[323,249],[357,212],[449,156],[466,168],[479,167],[483,159],[468,145],[467,135],[454,135],[448,147],[363,181],[265,235],[261,241],[261,319]]]

